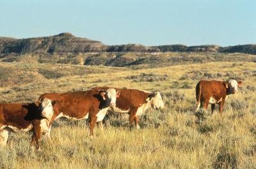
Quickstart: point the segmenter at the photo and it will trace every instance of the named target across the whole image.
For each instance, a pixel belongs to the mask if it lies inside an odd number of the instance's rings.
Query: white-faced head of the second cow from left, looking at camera
[[[107,91],[100,91],[100,96],[104,101],[108,103],[111,107],[116,106],[116,98],[120,95],[120,91],[116,91],[115,89],[108,89]]]

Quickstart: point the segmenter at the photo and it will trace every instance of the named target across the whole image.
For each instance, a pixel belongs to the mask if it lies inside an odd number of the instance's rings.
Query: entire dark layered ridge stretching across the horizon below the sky
[[[140,44],[104,45],[100,41],[78,38],[71,33],[40,38],[15,39],[0,37],[0,54],[27,53],[87,53],[87,52],[223,52],[256,54],[256,45],[236,45],[220,47],[218,45],[161,45],[145,47]]]

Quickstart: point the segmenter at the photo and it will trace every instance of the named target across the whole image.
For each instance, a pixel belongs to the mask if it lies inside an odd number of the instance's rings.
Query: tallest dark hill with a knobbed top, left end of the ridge
[[[100,52],[106,50],[106,45],[100,41],[77,38],[70,33],[61,33],[56,36],[42,38],[10,39],[0,38],[0,52],[8,53],[74,53]]]

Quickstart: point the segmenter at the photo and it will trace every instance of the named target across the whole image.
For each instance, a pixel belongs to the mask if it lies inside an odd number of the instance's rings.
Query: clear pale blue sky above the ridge
[[[0,36],[70,32],[106,45],[256,43],[255,0],[1,0]]]

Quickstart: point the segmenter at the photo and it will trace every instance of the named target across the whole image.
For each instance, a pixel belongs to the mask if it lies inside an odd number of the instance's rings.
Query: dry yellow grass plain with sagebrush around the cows
[[[86,122],[58,120],[41,152],[29,147],[31,133],[11,133],[8,147],[0,149],[0,168],[256,168],[255,62],[136,69],[37,62],[0,66],[5,76],[0,102],[36,101],[44,92],[108,85],[161,91],[166,104],[140,117],[139,130],[128,128],[127,115],[109,112],[104,131],[96,128],[94,138],[88,137]],[[223,116],[195,114],[196,83],[230,77],[242,80],[243,87],[227,99]]]

